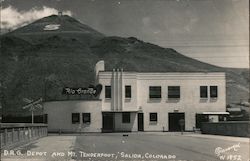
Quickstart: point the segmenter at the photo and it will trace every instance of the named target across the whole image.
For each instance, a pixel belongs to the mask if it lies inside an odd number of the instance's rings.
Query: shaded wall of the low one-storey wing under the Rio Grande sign
[[[64,132],[101,132],[101,101],[53,101],[44,103],[48,130]],[[80,113],[80,124],[72,124],[72,113]],[[90,124],[83,124],[82,113],[91,113]]]

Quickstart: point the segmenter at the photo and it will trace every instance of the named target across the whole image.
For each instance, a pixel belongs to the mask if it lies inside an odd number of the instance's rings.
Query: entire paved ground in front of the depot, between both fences
[[[216,149],[221,159],[215,154]],[[64,135],[39,139],[16,148],[14,152],[17,153],[18,150],[23,155],[8,154],[3,156],[3,160],[217,161],[225,157],[224,160],[248,161],[249,139],[190,133],[129,133],[128,136],[121,133]],[[47,154],[27,156],[31,151]]]

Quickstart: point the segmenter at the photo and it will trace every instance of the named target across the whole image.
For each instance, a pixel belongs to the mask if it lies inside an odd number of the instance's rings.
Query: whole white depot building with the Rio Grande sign
[[[44,103],[49,131],[192,131],[228,114],[222,72],[105,71],[104,61],[95,70],[99,88],[65,89],[95,99]]]

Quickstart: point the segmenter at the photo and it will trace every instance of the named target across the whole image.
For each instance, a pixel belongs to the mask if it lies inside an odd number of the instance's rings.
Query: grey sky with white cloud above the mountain
[[[107,36],[133,36],[214,65],[249,68],[248,0],[1,0],[1,29],[58,11]]]

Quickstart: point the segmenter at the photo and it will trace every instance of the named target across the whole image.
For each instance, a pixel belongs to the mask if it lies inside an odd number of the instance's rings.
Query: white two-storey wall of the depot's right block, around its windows
[[[153,79],[152,79],[153,78]],[[218,98],[200,99],[200,86],[218,86]],[[161,86],[162,98],[149,99],[149,86]],[[168,99],[168,86],[180,86],[180,99]],[[200,112],[226,111],[226,87],[223,73],[169,73],[139,74],[137,82],[138,106],[144,114],[144,130],[168,130],[168,113],[178,110],[185,113],[185,130],[195,126],[195,114]],[[149,113],[158,113],[158,122],[149,122]]]

